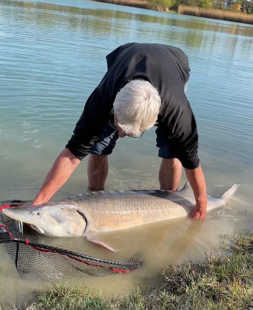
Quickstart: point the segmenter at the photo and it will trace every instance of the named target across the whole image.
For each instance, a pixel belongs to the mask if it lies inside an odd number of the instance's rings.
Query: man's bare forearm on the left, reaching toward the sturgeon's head
[[[46,203],[55,192],[63,186],[68,180],[71,173],[80,163],[68,149],[64,149],[56,158],[52,168],[50,169],[39,193],[36,195],[32,205]]]

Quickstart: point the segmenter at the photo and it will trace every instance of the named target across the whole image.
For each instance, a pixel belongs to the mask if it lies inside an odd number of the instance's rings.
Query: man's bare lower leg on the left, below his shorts
[[[88,181],[91,189],[103,189],[108,176],[108,155],[90,154],[88,160]]]

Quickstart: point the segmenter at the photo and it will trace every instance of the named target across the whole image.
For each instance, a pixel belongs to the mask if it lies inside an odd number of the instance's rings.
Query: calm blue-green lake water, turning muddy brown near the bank
[[[208,214],[202,227],[186,220],[105,235],[103,240],[122,249],[118,253],[82,238],[40,239],[122,261],[142,249],[144,263],[137,271],[78,279],[109,296],[156,286],[161,269],[203,257],[219,235],[251,228],[253,26],[86,0],[0,2],[1,200],[34,198],[105,74],[106,55],[132,41],[173,45],[187,54],[192,70],[187,97],[198,123],[207,193],[219,197],[234,183],[241,186],[229,206]],[[87,162],[53,200],[86,192]],[[119,139],[109,164],[106,190],[158,189],[154,129],[140,141]],[[185,181],[183,174],[181,187]],[[39,284],[22,282],[3,246],[0,251],[0,305],[24,303]]]

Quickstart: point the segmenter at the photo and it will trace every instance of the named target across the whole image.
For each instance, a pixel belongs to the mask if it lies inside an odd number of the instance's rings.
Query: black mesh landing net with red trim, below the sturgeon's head
[[[22,200],[0,201],[0,224],[5,225],[11,236],[29,240],[29,243],[26,242],[27,245],[21,242],[5,243],[7,253],[14,261],[21,279],[67,280],[75,277],[78,272],[102,277],[110,274],[126,273],[141,266],[141,253],[137,253],[127,262],[111,261],[37,243],[36,235],[27,235],[26,232],[21,235],[15,220],[4,215],[1,209],[4,207],[15,209],[25,203],[26,201]]]

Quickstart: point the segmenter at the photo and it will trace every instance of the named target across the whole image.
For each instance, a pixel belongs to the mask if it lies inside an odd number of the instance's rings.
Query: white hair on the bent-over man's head
[[[156,88],[148,81],[134,79],[117,93],[113,112],[122,132],[139,136],[140,131],[155,124],[160,106],[161,99]]]

